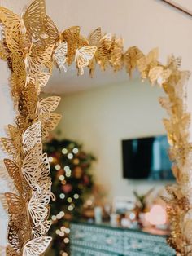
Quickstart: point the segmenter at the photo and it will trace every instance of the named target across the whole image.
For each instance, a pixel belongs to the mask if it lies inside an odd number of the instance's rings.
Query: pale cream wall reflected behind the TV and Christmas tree
[[[152,185],[122,178],[120,141],[165,133],[162,118],[166,113],[159,105],[160,95],[163,90],[140,79],[63,95],[58,110],[63,113],[62,137],[83,143],[98,158],[94,175],[110,198],[129,196],[137,185],[139,190]]]

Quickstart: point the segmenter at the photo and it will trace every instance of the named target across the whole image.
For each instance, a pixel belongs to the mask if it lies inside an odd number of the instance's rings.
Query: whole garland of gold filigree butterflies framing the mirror
[[[11,69],[11,93],[18,112],[15,125],[8,125],[8,137],[1,138],[10,159],[4,159],[7,173],[1,171],[0,175],[8,179],[8,174],[15,184],[15,192],[0,195],[10,216],[6,254],[43,255],[50,244],[51,238],[46,232],[50,228],[49,202],[53,195],[50,165],[46,153],[42,152],[42,141],[61,118],[54,113],[60,98],[39,99],[38,95],[55,66],[66,71],[66,65],[75,62],[78,74],[82,75],[88,67],[91,76],[96,64],[103,70],[111,66],[119,71],[124,67],[129,76],[137,68],[142,79],[157,83],[167,94],[159,101],[170,116],[164,119],[164,126],[171,145],[172,171],[177,179],[177,185],[168,188],[168,197],[164,198],[172,220],[168,242],[177,253],[188,255],[192,241],[184,222],[189,224],[191,218],[188,212],[192,194],[192,151],[190,114],[185,108],[185,83],[189,72],[179,70],[181,59],[171,56],[168,64],[163,65],[158,61],[157,48],[148,55],[137,46],[124,52],[123,40],[103,34],[100,28],[88,38],[81,36],[78,26],[60,33],[46,15],[44,0],[33,1],[21,16],[0,7],[0,25],[0,58],[6,60]]]

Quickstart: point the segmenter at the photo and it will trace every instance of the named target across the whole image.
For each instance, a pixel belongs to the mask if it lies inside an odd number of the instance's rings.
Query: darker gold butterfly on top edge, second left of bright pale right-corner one
[[[132,77],[132,73],[137,68],[137,60],[143,57],[143,53],[137,46],[130,47],[124,53],[124,66],[129,73],[129,76]]]

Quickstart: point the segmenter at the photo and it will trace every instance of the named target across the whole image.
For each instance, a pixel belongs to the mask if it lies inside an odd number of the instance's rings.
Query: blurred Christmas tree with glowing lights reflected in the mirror
[[[50,204],[53,222],[50,236],[52,248],[47,255],[67,256],[69,254],[69,222],[81,218],[86,196],[94,186],[90,167],[95,157],[85,153],[82,145],[72,140],[52,139],[45,145],[50,161],[52,192],[55,201]]]

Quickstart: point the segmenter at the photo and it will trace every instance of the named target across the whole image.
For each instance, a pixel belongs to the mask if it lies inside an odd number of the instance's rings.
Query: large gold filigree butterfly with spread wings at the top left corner
[[[45,15],[46,6],[44,0],[33,1],[21,17],[7,8],[0,7],[2,24],[11,30],[20,30],[22,33],[25,33],[27,29],[36,40],[41,39],[41,33],[44,31],[43,18]]]

